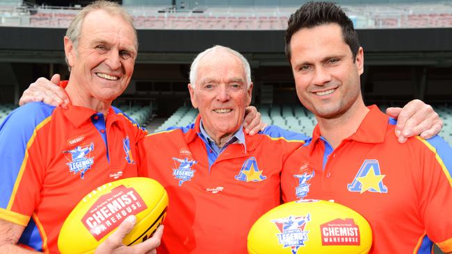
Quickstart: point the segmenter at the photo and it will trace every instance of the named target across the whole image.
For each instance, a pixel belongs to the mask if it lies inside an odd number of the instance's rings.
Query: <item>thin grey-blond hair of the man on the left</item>
[[[95,11],[95,10],[104,10],[110,15],[119,15],[122,17],[127,23],[130,24],[132,28],[134,28],[134,34],[135,34],[135,49],[138,51],[138,35],[136,33],[136,29],[134,26],[134,18],[129,15],[127,10],[122,8],[118,3],[111,2],[111,1],[105,1],[105,0],[98,0],[93,3],[90,3],[88,6],[84,7],[77,15],[72,19],[71,24],[67,28],[66,36],[69,38],[69,40],[74,44],[74,49],[77,49],[77,46],[79,44],[79,38],[81,35],[81,26],[83,24],[83,20],[85,19],[86,15],[88,13]],[[69,68],[69,71],[71,71],[71,67],[69,65],[69,62],[67,62],[67,58],[65,58],[67,67]]]

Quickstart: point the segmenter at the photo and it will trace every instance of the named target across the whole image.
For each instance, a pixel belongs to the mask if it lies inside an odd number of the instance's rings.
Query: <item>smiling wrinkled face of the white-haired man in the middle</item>
[[[243,63],[222,49],[209,52],[197,68],[195,88],[188,85],[191,103],[200,110],[202,125],[213,138],[234,134],[251,103]]]

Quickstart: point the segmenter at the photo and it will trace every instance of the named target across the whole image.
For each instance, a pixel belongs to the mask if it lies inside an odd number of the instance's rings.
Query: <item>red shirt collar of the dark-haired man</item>
[[[376,105],[370,105],[367,108],[369,108],[369,112],[367,112],[366,117],[364,117],[356,132],[350,135],[348,139],[361,143],[380,144],[385,141],[389,117],[382,113]],[[315,149],[314,146],[318,145],[319,140],[321,140],[321,133],[317,124],[312,133],[311,153]]]

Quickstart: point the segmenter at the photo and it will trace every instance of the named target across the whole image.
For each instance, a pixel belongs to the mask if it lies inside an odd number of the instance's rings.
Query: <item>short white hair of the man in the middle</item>
[[[245,70],[245,75],[246,75],[247,88],[249,88],[251,85],[250,63],[248,62],[248,60],[246,60],[246,58],[241,53],[235,51],[234,49],[228,48],[227,46],[221,46],[221,45],[212,46],[211,48],[202,51],[201,53],[199,53],[196,56],[195,60],[193,60],[193,62],[191,63],[191,67],[190,67],[190,85],[191,85],[191,87],[195,88],[197,69],[198,69],[198,66],[200,65],[201,59],[204,58],[204,56],[206,56],[208,53],[211,53],[211,52],[217,51],[217,50],[226,51],[226,52],[231,53],[232,55],[236,56],[237,58],[239,58],[239,60],[243,64],[243,69]]]

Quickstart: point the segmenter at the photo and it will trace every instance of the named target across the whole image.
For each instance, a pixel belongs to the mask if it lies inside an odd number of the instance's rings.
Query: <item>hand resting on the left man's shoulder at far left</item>
[[[24,91],[19,100],[19,105],[24,105],[33,101],[42,101],[49,105],[67,107],[69,99],[63,88],[59,87],[60,74],[55,74],[50,81],[47,78],[38,78],[35,83],[31,83]]]

